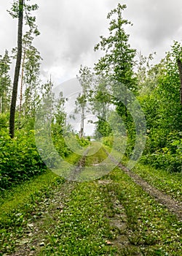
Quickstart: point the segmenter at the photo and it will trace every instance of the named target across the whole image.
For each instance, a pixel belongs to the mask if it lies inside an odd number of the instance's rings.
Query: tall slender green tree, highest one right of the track
[[[119,116],[127,123],[130,114],[127,105],[130,104],[130,91],[136,91],[136,79],[133,67],[135,64],[135,49],[130,47],[129,35],[124,31],[124,26],[131,25],[130,21],[122,17],[126,5],[118,4],[108,13],[110,20],[108,37],[100,37],[100,42],[95,45],[95,50],[105,53],[95,64],[96,74],[106,75],[111,78],[113,97],[111,102],[116,106]]]

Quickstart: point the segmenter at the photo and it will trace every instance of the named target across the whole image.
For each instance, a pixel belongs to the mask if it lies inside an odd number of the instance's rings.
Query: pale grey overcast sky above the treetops
[[[93,67],[100,56],[93,48],[108,29],[107,13],[118,3],[127,4],[124,18],[130,44],[144,55],[157,52],[156,61],[170,50],[173,40],[182,39],[181,0],[35,0],[41,35],[34,45],[44,59],[41,77],[55,83],[74,78],[81,64]],[[16,46],[17,21],[7,13],[12,0],[0,0],[0,54]]]

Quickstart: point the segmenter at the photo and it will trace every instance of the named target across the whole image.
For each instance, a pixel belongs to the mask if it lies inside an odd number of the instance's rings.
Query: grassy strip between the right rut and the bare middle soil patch
[[[114,184],[107,187],[125,208],[130,243],[140,246],[143,255],[181,255],[181,222],[119,168],[111,179]]]

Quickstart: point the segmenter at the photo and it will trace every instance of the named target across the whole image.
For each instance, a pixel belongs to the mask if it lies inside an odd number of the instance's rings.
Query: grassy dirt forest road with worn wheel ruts
[[[91,149],[70,177],[112,159]],[[95,181],[58,182],[29,204],[1,232],[0,255],[181,255],[181,203],[122,164]]]

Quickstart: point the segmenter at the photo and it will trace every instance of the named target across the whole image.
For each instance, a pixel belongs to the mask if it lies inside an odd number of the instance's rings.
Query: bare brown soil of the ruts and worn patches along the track
[[[87,155],[87,151],[89,148],[87,148],[86,151],[84,151],[83,157],[79,160],[78,164],[76,165],[75,169],[72,171],[71,176],[69,180],[66,181],[65,184],[63,184],[62,187],[55,189],[55,194],[52,198],[47,198],[46,203],[42,203],[42,206],[37,209],[37,211],[43,211],[44,214],[42,217],[38,220],[31,220],[30,223],[28,223],[27,227],[25,228],[25,233],[23,235],[23,238],[20,238],[20,240],[17,240],[17,243],[15,245],[16,252],[12,253],[11,256],[22,256],[22,255],[36,255],[37,252],[41,249],[41,246],[44,246],[46,241],[44,241],[44,237],[49,235],[51,233],[51,230],[55,228],[57,224],[57,219],[55,219],[55,214],[57,211],[63,211],[63,207],[66,205],[66,201],[69,200],[69,197],[71,195],[71,192],[76,186],[76,182],[73,182],[76,177],[79,175],[82,167],[84,167],[85,164],[85,157]],[[106,151],[108,154],[108,152]],[[108,156],[116,162],[114,157],[112,157],[110,154]],[[157,202],[161,203],[163,206],[166,206],[169,211],[173,214],[175,214],[178,219],[182,220],[182,206],[181,203],[179,203],[176,200],[173,200],[170,196],[165,195],[165,193],[159,191],[159,189],[156,189],[155,187],[152,187],[150,184],[148,184],[146,181],[143,180],[140,176],[133,173],[131,170],[129,170],[127,167],[125,167],[122,164],[118,164],[118,167],[124,171],[124,173],[127,173],[130,178],[135,182],[135,184],[138,184],[142,187],[144,191],[149,193],[152,197],[154,197]],[[111,183],[111,180],[103,179],[95,181],[100,184],[100,187],[104,187],[107,184]],[[116,196],[114,195],[114,192],[111,192],[111,197],[113,201],[114,208],[116,208],[117,214],[114,214],[114,217],[109,217],[109,223],[111,227],[114,227],[118,230],[116,238],[114,238],[111,241],[107,241],[108,244],[117,246],[120,249],[123,249],[128,246],[133,246],[130,244],[130,241],[127,238],[127,215],[124,213],[124,208],[119,203],[118,200],[116,200]],[[43,205],[44,204],[44,205]],[[50,222],[47,222],[47,219],[50,219]],[[44,222],[47,222],[47,227],[44,227],[44,231],[42,231],[42,225]],[[141,255],[140,249],[137,246],[133,246],[133,255]],[[10,256],[10,255],[9,255]]]

